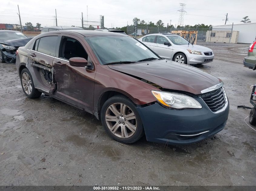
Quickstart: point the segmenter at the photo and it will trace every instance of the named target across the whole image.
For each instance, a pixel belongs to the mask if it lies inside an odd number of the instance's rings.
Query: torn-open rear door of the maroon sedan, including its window
[[[56,56],[58,36],[47,36],[37,39],[32,47],[28,49],[27,68],[32,70],[35,88],[45,92],[53,92],[53,58]]]

